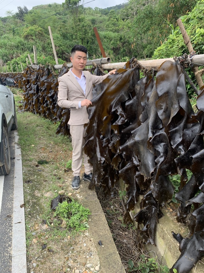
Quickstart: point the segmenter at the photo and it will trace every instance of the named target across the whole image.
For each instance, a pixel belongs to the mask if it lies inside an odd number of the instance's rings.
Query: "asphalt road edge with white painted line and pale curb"
[[[11,171],[0,176],[0,273],[27,272],[22,162],[17,138],[17,131],[11,131]]]

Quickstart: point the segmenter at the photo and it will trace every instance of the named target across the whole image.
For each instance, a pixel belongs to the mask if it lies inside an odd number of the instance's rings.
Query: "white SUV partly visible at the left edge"
[[[0,78],[0,175],[6,175],[11,169],[8,136],[17,129],[17,117],[14,96],[6,85],[14,85],[13,79]]]

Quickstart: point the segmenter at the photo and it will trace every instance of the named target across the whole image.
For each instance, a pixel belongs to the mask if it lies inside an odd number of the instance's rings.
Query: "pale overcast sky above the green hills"
[[[26,6],[28,10],[31,10],[32,7],[43,5],[43,4],[52,4],[52,3],[58,3],[62,4],[65,2],[65,0],[0,0],[0,17],[7,16],[6,12],[12,11],[13,13],[16,13],[17,7],[23,7]],[[83,1],[81,1],[82,3]],[[89,3],[88,3],[89,2]],[[107,8],[107,7],[113,7],[115,5],[119,5],[122,3],[126,3],[128,0],[84,0],[84,7],[91,7],[91,8]],[[86,4],[87,3],[87,4]]]

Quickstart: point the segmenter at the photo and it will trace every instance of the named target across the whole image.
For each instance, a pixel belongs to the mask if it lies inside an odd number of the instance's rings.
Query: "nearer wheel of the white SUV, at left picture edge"
[[[3,127],[2,144],[3,144],[3,153],[4,153],[4,165],[0,167],[0,175],[6,175],[11,170],[11,156],[10,156],[10,148],[8,143],[8,131],[5,125]]]

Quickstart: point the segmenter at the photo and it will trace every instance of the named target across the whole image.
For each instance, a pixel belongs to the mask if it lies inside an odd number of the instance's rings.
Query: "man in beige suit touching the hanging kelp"
[[[108,75],[115,74],[116,69],[104,76],[94,76],[89,71],[83,71],[87,61],[87,49],[82,45],[75,45],[71,51],[70,60],[72,68],[63,76],[58,78],[58,105],[63,108],[70,108],[70,134],[72,136],[72,189],[80,186],[80,170],[82,167],[84,136],[84,124],[89,122],[86,107],[91,103],[92,86],[99,84]],[[84,177],[91,181],[92,166],[88,163],[88,156],[84,154]]]

